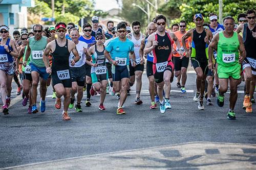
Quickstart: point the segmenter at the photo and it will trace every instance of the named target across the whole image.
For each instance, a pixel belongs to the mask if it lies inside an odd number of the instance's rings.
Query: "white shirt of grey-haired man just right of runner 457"
[[[87,48],[88,44],[83,42],[83,41],[78,41],[78,44],[76,44],[76,50],[78,51],[79,54],[79,61],[76,62],[74,66],[71,65],[69,62],[70,67],[81,67],[86,63],[86,54],[83,52],[83,48]],[[71,52],[69,55],[69,61],[73,60],[75,58],[74,54]]]

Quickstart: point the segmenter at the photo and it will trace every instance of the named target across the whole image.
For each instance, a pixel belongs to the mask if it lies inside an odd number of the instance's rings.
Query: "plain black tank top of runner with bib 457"
[[[57,40],[55,40],[56,48],[52,53],[52,70],[65,70],[69,69],[69,48],[68,48],[68,39],[64,46],[59,46]]]

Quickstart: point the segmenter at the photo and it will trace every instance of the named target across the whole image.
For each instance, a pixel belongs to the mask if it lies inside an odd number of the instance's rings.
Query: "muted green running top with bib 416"
[[[30,53],[30,62],[37,67],[45,67],[45,63],[42,60],[42,53],[45,50],[47,45],[47,37],[42,36],[38,41],[35,40],[35,37],[29,38],[29,46],[31,48]]]

